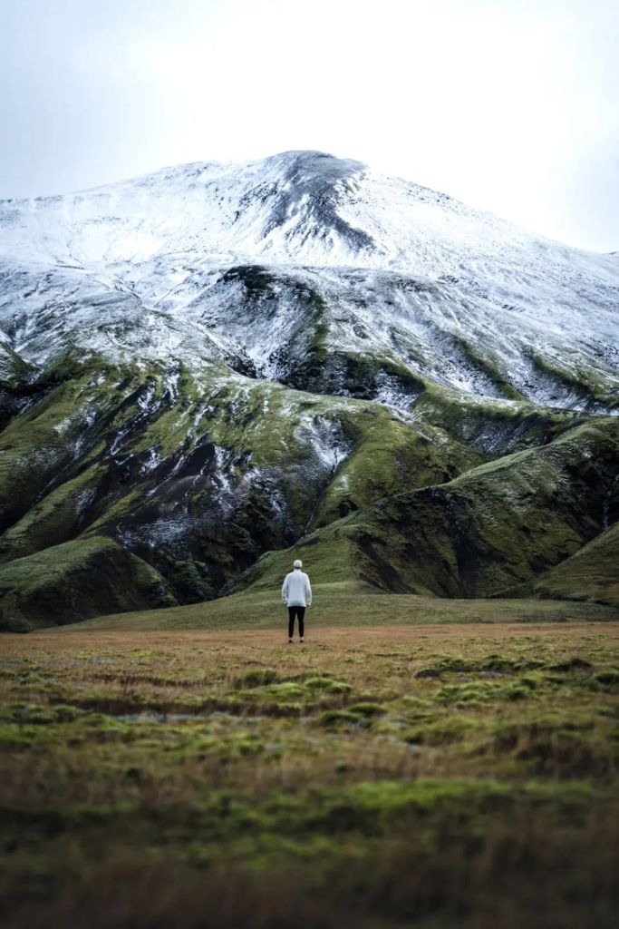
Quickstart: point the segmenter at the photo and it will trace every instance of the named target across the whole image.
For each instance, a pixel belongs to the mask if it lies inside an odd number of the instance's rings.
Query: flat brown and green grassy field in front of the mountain
[[[614,926],[619,626],[417,599],[0,638],[4,925]]]

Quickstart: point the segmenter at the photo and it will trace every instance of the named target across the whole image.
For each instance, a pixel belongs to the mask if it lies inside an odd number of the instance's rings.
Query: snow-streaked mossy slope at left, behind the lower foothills
[[[379,403],[221,365],[197,374],[69,355],[21,394],[26,408],[0,433],[0,564],[108,536],[181,603],[217,595],[265,550],[342,513],[481,460]],[[110,608],[104,598],[99,612]]]

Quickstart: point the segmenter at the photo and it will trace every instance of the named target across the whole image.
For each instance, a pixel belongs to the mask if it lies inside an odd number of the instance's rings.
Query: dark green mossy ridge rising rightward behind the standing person
[[[385,591],[489,596],[573,556],[603,529],[619,471],[619,424],[581,425],[549,445],[483,464],[448,483],[382,500],[294,547],[321,581]],[[290,551],[244,579],[275,582]]]

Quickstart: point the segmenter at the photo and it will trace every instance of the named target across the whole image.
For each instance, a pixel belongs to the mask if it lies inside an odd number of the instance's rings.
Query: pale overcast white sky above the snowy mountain
[[[0,0],[0,196],[289,149],[619,249],[617,0]]]

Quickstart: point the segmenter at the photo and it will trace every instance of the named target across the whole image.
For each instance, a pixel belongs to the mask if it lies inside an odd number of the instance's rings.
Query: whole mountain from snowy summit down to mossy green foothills
[[[317,152],[0,203],[0,622],[289,546],[388,590],[546,577],[617,517],[618,298],[612,255]]]

